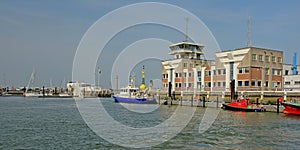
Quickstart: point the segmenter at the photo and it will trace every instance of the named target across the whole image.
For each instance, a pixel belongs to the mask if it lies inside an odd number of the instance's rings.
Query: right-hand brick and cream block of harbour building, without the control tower
[[[282,60],[282,51],[256,47],[216,53],[212,89],[229,91],[234,80],[237,91],[282,90]]]

